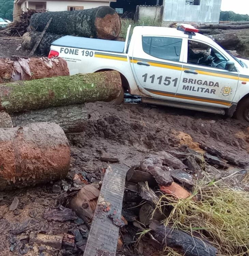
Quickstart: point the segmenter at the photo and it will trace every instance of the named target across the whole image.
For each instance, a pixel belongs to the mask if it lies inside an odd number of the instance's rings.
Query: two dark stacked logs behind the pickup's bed
[[[46,28],[47,24],[49,26]],[[32,50],[35,43],[41,40],[36,53],[47,56],[51,43],[64,35],[113,40],[118,37],[120,30],[120,18],[109,6],[73,12],[39,13],[32,15],[22,47]]]

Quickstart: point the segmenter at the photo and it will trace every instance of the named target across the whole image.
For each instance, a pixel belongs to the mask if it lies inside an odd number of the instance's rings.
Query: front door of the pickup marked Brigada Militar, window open
[[[225,69],[228,59],[213,46],[194,39],[185,40],[185,64],[176,98],[228,108],[237,90],[238,72]]]

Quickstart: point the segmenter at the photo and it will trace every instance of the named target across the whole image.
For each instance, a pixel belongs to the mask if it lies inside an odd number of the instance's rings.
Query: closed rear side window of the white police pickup
[[[142,37],[147,54],[165,60],[179,61],[182,39],[170,37]]]

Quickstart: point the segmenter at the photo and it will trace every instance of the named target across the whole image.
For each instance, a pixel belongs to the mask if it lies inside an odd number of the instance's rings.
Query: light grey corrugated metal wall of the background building
[[[187,5],[186,0],[164,0],[165,22],[218,23],[221,0],[201,0],[200,5]]]

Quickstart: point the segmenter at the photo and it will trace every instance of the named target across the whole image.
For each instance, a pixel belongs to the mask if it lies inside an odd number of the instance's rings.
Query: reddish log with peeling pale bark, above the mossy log
[[[62,58],[0,58],[0,83],[69,76],[67,62]]]

